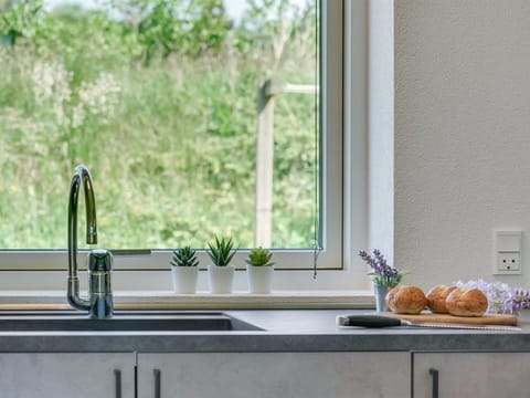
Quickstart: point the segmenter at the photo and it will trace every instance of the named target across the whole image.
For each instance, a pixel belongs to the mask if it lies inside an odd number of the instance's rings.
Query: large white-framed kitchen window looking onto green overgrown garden
[[[78,163],[94,177],[97,247],[117,250],[117,270],[168,270],[171,249],[215,234],[234,238],[240,266],[266,242],[277,269],[341,270],[344,6],[6,3],[0,270],[66,269]],[[257,240],[257,125],[271,102],[272,211],[261,222],[272,228]]]

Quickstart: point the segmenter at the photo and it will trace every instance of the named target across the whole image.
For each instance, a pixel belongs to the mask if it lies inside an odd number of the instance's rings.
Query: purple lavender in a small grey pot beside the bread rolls
[[[384,255],[381,254],[381,251],[378,249],[373,250],[373,256],[368,254],[365,251],[360,251],[359,255],[372,269],[372,272],[370,272],[369,275],[372,277],[373,282],[375,310],[378,312],[383,312],[386,310],[384,302],[386,293],[392,287],[398,286],[405,273],[399,272],[395,268],[390,265]]]

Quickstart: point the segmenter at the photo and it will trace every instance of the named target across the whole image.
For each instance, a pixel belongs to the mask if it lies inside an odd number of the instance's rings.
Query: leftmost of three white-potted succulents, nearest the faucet
[[[199,271],[199,260],[195,251],[189,245],[174,250],[170,264],[174,292],[180,294],[195,293]]]

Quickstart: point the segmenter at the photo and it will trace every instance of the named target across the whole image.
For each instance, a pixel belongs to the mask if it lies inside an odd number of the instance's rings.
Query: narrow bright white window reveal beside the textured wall
[[[393,0],[369,2],[368,242],[393,258]]]

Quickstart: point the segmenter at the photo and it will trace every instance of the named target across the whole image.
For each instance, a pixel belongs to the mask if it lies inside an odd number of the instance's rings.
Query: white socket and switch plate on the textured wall
[[[521,274],[521,231],[495,232],[494,275]]]

